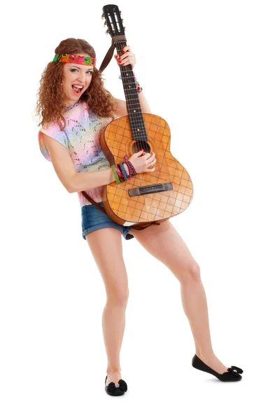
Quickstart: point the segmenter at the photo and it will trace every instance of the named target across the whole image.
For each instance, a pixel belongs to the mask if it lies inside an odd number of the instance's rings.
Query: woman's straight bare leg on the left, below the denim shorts
[[[125,332],[128,283],[121,233],[114,228],[95,230],[86,235],[90,251],[106,288],[107,301],[102,314],[104,344],[107,353],[107,380],[118,384],[121,377],[120,348]]]

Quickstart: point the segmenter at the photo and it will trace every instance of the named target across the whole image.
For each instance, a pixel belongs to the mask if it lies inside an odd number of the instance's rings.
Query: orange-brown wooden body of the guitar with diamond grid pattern
[[[132,138],[128,116],[113,120],[100,139],[102,150],[110,165],[123,162],[144,148],[155,152],[154,172],[132,176],[120,184],[113,182],[102,187],[102,201],[106,214],[125,226],[144,226],[165,221],[182,213],[193,199],[190,175],[170,152],[170,130],[167,122],[153,114],[143,113],[147,141]]]

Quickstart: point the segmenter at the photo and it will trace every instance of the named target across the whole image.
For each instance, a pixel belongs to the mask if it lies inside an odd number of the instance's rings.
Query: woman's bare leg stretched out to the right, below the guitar
[[[134,237],[155,258],[163,262],[181,283],[183,310],[195,340],[195,352],[218,373],[227,371],[214,354],[209,330],[207,297],[200,279],[200,267],[170,221],[133,231]]]

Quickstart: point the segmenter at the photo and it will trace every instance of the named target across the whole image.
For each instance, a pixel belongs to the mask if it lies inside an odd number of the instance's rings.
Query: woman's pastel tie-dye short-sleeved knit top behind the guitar
[[[51,162],[50,154],[46,148],[43,136],[59,141],[66,147],[75,166],[76,172],[93,172],[109,169],[110,164],[100,146],[100,134],[111,123],[110,117],[99,117],[89,111],[86,102],[78,102],[64,112],[66,125],[60,131],[57,123],[50,123],[48,127],[38,132],[38,141],[43,157]],[[102,186],[86,191],[95,202],[102,201]],[[78,191],[80,207],[91,204]]]

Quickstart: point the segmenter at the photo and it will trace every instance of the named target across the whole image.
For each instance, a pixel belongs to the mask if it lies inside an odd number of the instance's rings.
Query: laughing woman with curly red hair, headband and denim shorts
[[[115,58],[118,65],[131,64],[132,69],[136,63],[128,45],[123,54]],[[108,358],[106,392],[123,395],[127,391],[120,372],[120,348],[129,289],[120,232],[125,239],[135,237],[180,281],[183,309],[195,340],[193,367],[214,374],[221,381],[239,381],[243,371],[236,366],[227,368],[214,353],[200,267],[172,223],[165,221],[144,230],[132,230],[132,235],[129,233],[132,228],[112,221],[81,193],[86,191],[102,205],[102,186],[120,181],[121,177],[126,179],[129,174],[134,176],[133,170],[137,174],[153,172],[156,163],[154,153],[139,151],[130,156],[129,163],[110,168],[99,137],[113,118],[127,115],[127,109],[125,101],[105,90],[95,62],[94,49],[83,39],[68,38],[59,43],[54,60],[43,72],[36,110],[42,117],[38,135],[41,153],[52,162],[66,190],[78,193],[83,239],[90,246],[106,288],[107,301],[102,316]],[[137,85],[141,109],[151,113],[139,83]]]

